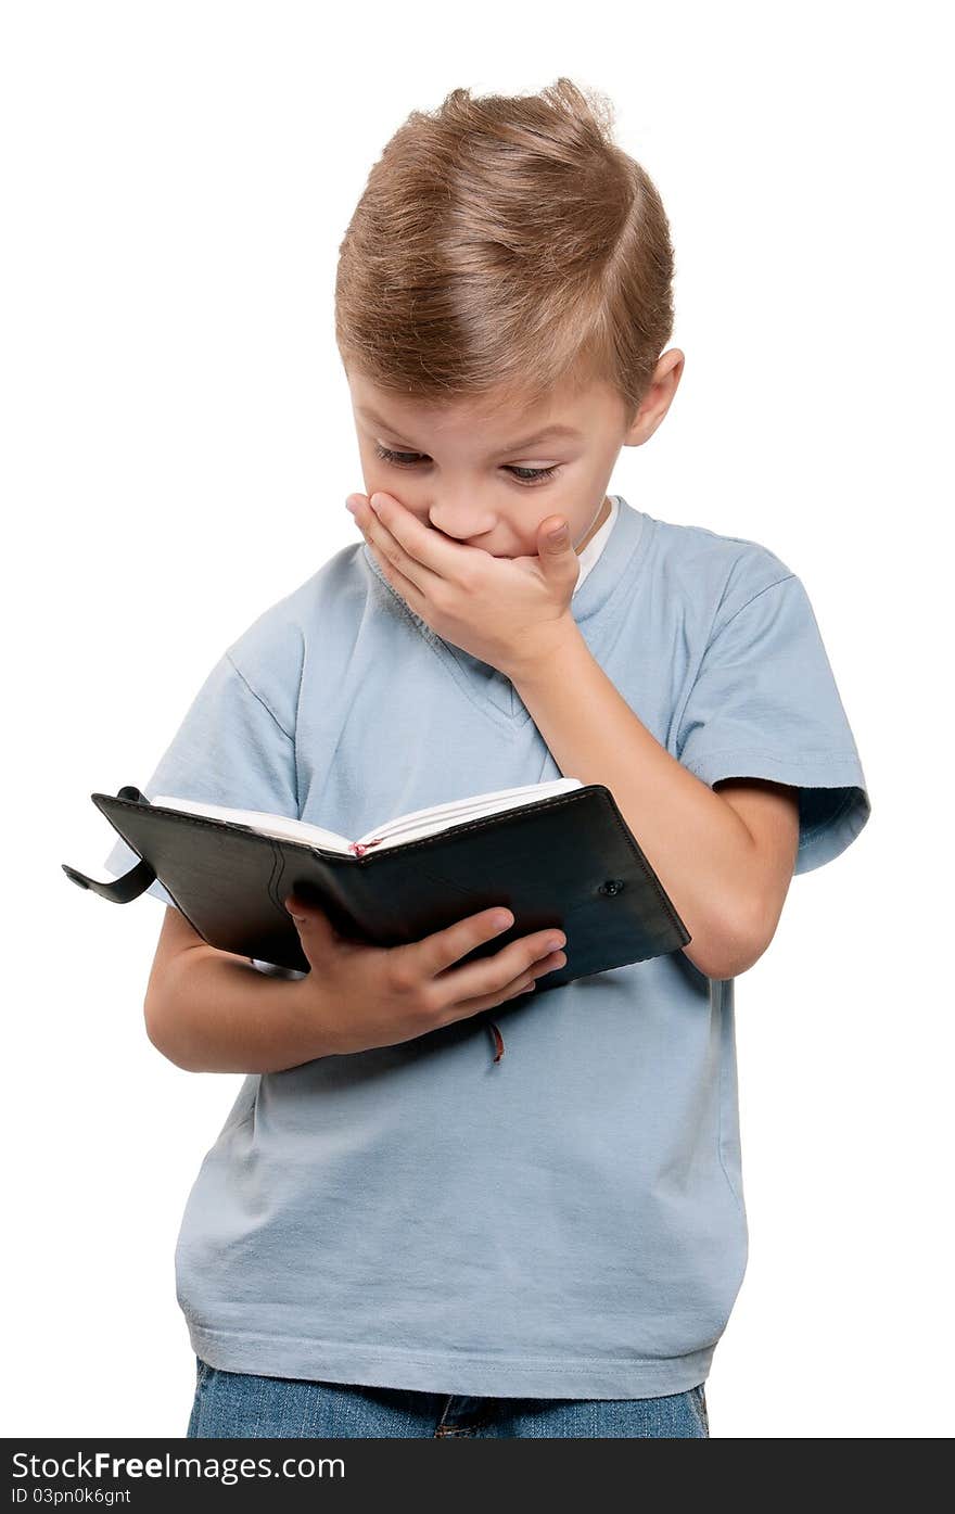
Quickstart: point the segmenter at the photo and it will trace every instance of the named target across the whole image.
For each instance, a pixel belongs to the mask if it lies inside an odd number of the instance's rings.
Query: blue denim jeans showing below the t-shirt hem
[[[257,1378],[195,1358],[186,1435],[245,1440],[300,1437],[434,1440],[705,1440],[704,1384],[660,1399],[471,1399],[415,1388],[371,1388],[304,1378]]]

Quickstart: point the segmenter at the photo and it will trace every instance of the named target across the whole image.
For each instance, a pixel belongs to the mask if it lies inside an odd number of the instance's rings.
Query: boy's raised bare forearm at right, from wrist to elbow
[[[736,810],[648,731],[577,625],[510,678],[560,771],[613,793],[693,937],[690,961],[711,978],[745,972],[755,843]]]

